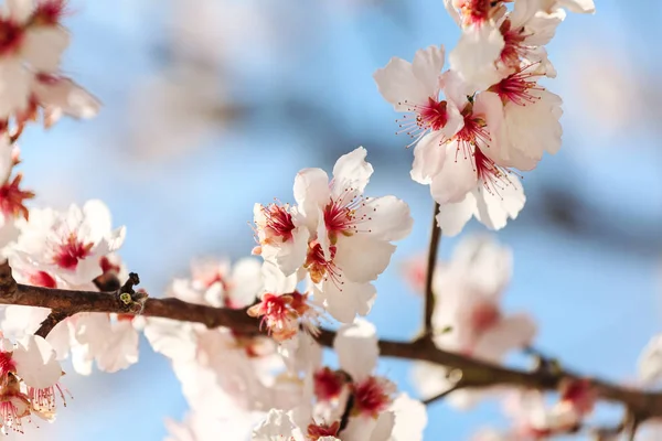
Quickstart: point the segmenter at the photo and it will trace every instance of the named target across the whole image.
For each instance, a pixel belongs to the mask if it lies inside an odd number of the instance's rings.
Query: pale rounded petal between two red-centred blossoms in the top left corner
[[[22,55],[35,71],[55,73],[68,42],[70,35],[64,28],[34,26],[25,33]]]

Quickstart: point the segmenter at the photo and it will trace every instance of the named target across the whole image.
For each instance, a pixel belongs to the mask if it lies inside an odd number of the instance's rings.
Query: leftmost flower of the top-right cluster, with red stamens
[[[414,63],[393,57],[373,75],[384,99],[396,111],[409,114],[401,120],[401,132],[414,138],[412,144],[428,132],[436,132],[435,139],[441,142],[462,127],[461,109],[452,100],[439,98],[442,67],[444,46],[429,46],[416,52]],[[426,158],[425,162],[427,166],[435,166],[439,160],[433,157]],[[420,164],[423,170],[415,168],[416,172],[412,172],[415,181],[425,181],[426,176],[434,174],[434,171],[426,170],[426,164]]]

